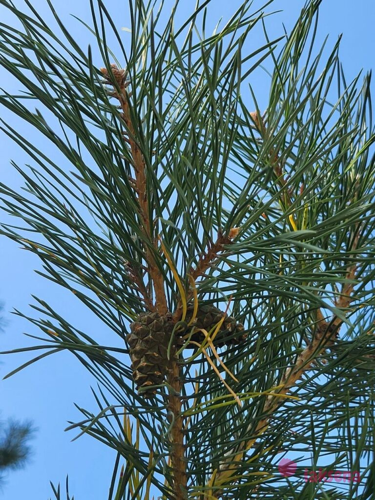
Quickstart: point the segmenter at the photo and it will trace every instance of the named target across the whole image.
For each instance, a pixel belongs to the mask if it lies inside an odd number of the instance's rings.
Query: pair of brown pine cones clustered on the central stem
[[[233,317],[211,304],[200,304],[194,322],[187,327],[192,318],[193,306],[188,306],[185,317],[186,327],[178,329],[176,340],[201,343],[205,335],[201,329],[209,332],[225,315],[213,344],[216,347],[236,345],[243,342],[246,335],[244,327]],[[194,330],[191,334],[191,329]],[[130,333],[126,336],[129,344],[133,380],[144,397],[151,397],[157,385],[164,382],[168,370],[168,344],[173,331],[172,314],[160,315],[158,312],[143,312],[130,324]],[[174,347],[174,346],[173,346]],[[187,344],[196,348],[196,344]]]

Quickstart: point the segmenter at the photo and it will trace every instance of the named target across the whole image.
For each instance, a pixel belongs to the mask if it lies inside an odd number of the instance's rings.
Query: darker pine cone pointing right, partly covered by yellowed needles
[[[194,307],[192,305],[187,306],[185,318],[186,322],[190,321],[193,309]],[[221,311],[212,304],[199,304],[195,321],[191,326],[195,326],[198,330],[202,328],[209,331],[220,321],[223,314],[225,315],[225,319],[223,320],[219,331],[216,333],[213,345],[216,347],[222,347],[223,345],[236,345],[243,342],[246,338],[246,335],[241,333],[244,330],[243,324],[237,323],[234,317],[228,316],[225,312]],[[188,330],[184,332],[184,334],[186,333],[188,333]],[[190,340],[201,343],[204,338],[205,336],[203,332],[194,331]]]

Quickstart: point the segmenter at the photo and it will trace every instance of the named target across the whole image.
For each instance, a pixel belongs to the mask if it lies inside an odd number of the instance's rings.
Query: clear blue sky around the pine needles
[[[21,5],[22,0],[15,2]],[[72,29],[77,41],[82,47],[93,43],[90,34],[78,22],[69,16],[70,13],[89,22],[88,0],[52,0],[65,25]],[[118,0],[105,0],[107,8],[113,12],[121,3]],[[126,3],[126,2],[124,2]],[[166,0],[166,5],[174,1]],[[181,0],[180,15],[190,11],[195,0]],[[227,17],[230,10],[234,10],[240,0],[212,0],[211,20],[223,16]],[[290,27],[296,18],[304,0],[276,0],[270,10],[281,8],[282,12],[267,19],[268,32],[277,36],[282,32],[282,23]],[[255,4],[261,2],[255,0]],[[46,3],[43,0],[33,0],[33,5],[40,14],[48,15]],[[375,45],[375,31],[373,19],[375,4],[373,0],[323,0],[320,8],[319,39],[329,34],[328,45],[332,46],[337,35],[343,33],[340,55],[343,66],[350,80],[361,69],[371,69],[374,66],[373,47]],[[214,18],[213,18],[214,17]],[[9,19],[0,7],[2,22]],[[127,26],[126,18],[120,15],[115,17],[118,28]],[[121,32],[126,36],[125,32]],[[257,43],[257,40],[252,40]],[[19,88],[6,72],[0,68],[0,86],[11,91]],[[260,90],[259,90],[260,91]],[[267,89],[259,95],[259,101],[265,101]],[[17,117],[10,116],[1,110],[1,117],[10,122],[29,139],[39,141],[35,132],[24,125]],[[0,132],[1,144],[1,181],[9,183],[13,188],[20,186],[20,178],[9,165],[13,159],[22,165],[29,160],[17,149],[10,139]],[[43,144],[44,151],[52,148]],[[4,215],[1,214],[1,220]],[[9,219],[6,219],[9,220]],[[0,299],[4,302],[4,317],[7,320],[4,333],[1,334],[1,349],[11,349],[32,344],[32,341],[22,335],[22,332],[38,334],[38,331],[25,320],[10,314],[12,308],[30,313],[28,304],[32,301],[31,294],[46,299],[55,306],[61,315],[77,327],[85,330],[94,338],[106,338],[109,344],[111,332],[107,331],[98,320],[86,311],[81,303],[66,291],[51,282],[46,282],[33,269],[40,269],[37,258],[25,250],[17,247],[13,242],[2,238],[0,244]],[[113,339],[113,342],[116,341]],[[0,370],[2,375],[26,361],[29,354],[2,356]],[[49,480],[53,483],[63,482],[69,474],[71,494],[76,500],[105,500],[112,472],[114,453],[84,436],[74,442],[72,431],[63,432],[68,420],[79,420],[80,413],[73,402],[95,411],[95,403],[90,392],[90,384],[95,381],[89,376],[75,358],[68,353],[52,355],[31,367],[26,368],[10,379],[0,382],[1,387],[1,417],[13,416],[19,419],[27,418],[33,421],[38,428],[33,445],[33,455],[26,468],[11,472],[4,484],[0,496],[12,500],[41,500],[51,496]]]

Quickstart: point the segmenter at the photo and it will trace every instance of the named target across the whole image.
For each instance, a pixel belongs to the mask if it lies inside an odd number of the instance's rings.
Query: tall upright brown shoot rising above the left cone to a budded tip
[[[157,243],[155,237],[152,234],[152,217],[149,215],[148,209],[148,199],[146,191],[146,168],[144,157],[138,144],[135,141],[135,129],[131,121],[128,94],[126,87],[128,82],[125,81],[126,73],[123,69],[118,69],[115,64],[111,64],[112,74],[116,80],[117,86],[120,90],[118,93],[117,89],[111,92],[111,95],[115,96],[119,102],[122,109],[122,119],[126,125],[126,131],[128,133],[128,139],[126,142],[130,145],[130,152],[132,156],[132,165],[134,168],[134,190],[137,193],[139,213],[142,222],[143,235],[145,241],[150,241],[151,246],[156,250]],[[108,73],[106,68],[101,68],[100,72],[106,78],[106,83],[111,84],[116,88],[114,82],[111,81],[111,75]],[[148,272],[153,284],[155,291],[155,301],[156,309],[160,314],[165,314],[168,310],[166,304],[165,290],[164,290],[164,280],[162,274],[157,266],[153,251],[149,248],[147,243],[144,244],[145,259],[148,264]],[[151,301],[148,296],[149,301]]]

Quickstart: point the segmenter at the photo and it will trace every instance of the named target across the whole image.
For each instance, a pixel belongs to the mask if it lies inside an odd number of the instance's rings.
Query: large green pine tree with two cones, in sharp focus
[[[373,498],[370,75],[346,82],[339,40],[315,46],[319,0],[277,39],[272,1],[208,35],[210,0],[181,24],[178,2],[166,18],[129,0],[126,41],[90,0],[100,58],[47,2],[58,32],[32,2],[0,1],[17,21],[0,63],[26,92],[0,103],[66,161],[2,122],[32,162],[14,164],[24,192],[0,184],[18,219],[2,233],[124,342],[103,347],[42,299],[29,317],[99,382],[72,428],[116,450],[109,500]],[[306,455],[358,476],[306,482]]]

